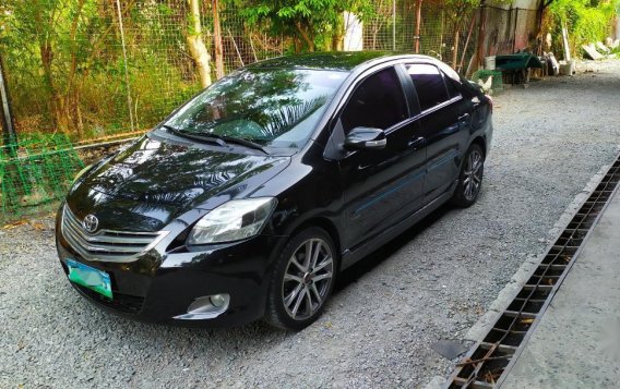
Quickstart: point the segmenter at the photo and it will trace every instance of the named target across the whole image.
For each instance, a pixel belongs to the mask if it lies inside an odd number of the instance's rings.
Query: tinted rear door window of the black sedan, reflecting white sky
[[[416,63],[407,65],[407,73],[414,81],[422,111],[449,100],[443,77],[436,66]]]

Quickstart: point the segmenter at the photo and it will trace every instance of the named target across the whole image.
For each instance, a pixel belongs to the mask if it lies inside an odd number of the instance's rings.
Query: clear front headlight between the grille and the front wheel
[[[234,199],[225,203],[199,220],[187,243],[223,243],[254,236],[261,232],[276,204],[274,197]]]

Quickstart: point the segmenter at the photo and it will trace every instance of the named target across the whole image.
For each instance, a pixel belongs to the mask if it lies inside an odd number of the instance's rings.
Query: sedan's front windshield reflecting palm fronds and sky
[[[346,76],[336,71],[245,69],[213,84],[164,125],[181,135],[299,148]]]

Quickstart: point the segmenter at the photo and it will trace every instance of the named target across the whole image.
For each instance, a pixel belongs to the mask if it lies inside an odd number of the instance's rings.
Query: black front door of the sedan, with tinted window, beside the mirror
[[[355,247],[421,206],[424,147],[413,142],[419,126],[410,119],[402,76],[390,66],[367,76],[351,93],[336,125],[345,136],[358,126],[385,131],[383,149],[348,153],[339,161],[347,229],[344,246]]]

